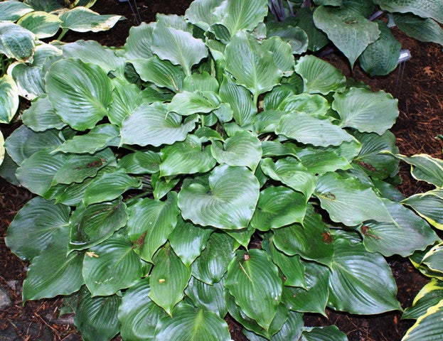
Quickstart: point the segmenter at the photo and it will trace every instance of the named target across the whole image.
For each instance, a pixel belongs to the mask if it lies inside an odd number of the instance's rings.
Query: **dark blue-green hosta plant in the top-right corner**
[[[385,22],[408,36],[443,45],[443,1],[428,0],[269,0],[276,34],[282,38],[305,36],[312,52],[332,41],[346,55],[351,67],[356,60],[370,75],[387,75],[397,66],[400,42]]]

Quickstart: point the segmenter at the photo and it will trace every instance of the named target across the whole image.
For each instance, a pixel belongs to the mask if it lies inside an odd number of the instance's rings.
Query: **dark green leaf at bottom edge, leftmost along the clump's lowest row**
[[[75,327],[85,341],[109,341],[119,332],[117,309],[121,298],[117,295],[92,297],[84,289],[75,312]]]

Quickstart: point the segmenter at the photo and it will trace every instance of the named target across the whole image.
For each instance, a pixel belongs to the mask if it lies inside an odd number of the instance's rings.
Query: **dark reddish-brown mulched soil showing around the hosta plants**
[[[134,0],[131,0],[132,4]],[[137,1],[142,21],[155,20],[155,13],[183,14],[190,0],[139,0]],[[119,0],[97,1],[92,8],[102,14],[121,14],[127,19],[119,21],[112,31],[104,33],[68,33],[66,42],[78,39],[94,39],[109,46],[123,45],[131,26],[137,25],[136,18],[127,2]],[[393,29],[395,37],[412,54],[405,63],[404,71],[399,69],[385,77],[368,77],[360,67],[350,70],[346,58],[334,51],[324,57],[342,70],[346,77],[361,80],[375,90],[385,90],[399,99],[400,116],[393,126],[400,153],[412,155],[427,153],[442,158],[442,141],[436,139],[443,133],[443,99],[439,96],[443,79],[442,47],[432,43],[420,43]],[[401,81],[400,81],[401,80]],[[17,124],[0,125],[5,137]],[[407,196],[429,190],[427,184],[414,180],[409,166],[402,165],[400,175],[403,183],[399,189]],[[0,286],[6,288],[12,299],[12,306],[0,310],[0,341],[11,340],[81,340],[73,327],[72,316],[58,319],[61,298],[31,301],[25,305],[21,301],[21,285],[26,276],[28,264],[11,254],[4,244],[6,228],[16,212],[33,195],[23,188],[16,188],[0,179]],[[402,308],[410,306],[420,288],[427,283],[406,259],[390,257],[388,263],[398,286],[397,298]],[[305,315],[306,325],[335,324],[348,335],[349,341],[400,341],[412,325],[412,321],[400,320],[400,313],[385,313],[376,316],[354,316],[327,310],[328,318],[319,315]],[[235,341],[246,340],[241,327],[228,316],[231,337]],[[114,341],[121,340],[115,337]]]

